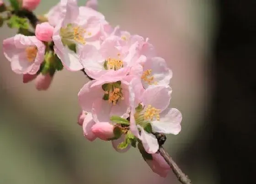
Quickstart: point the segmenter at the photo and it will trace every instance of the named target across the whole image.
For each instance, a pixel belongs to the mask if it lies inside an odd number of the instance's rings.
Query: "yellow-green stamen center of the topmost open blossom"
[[[68,24],[66,27],[60,28],[60,36],[63,40],[75,41],[85,45],[85,29],[75,24]],[[91,35],[91,32],[88,33]]]

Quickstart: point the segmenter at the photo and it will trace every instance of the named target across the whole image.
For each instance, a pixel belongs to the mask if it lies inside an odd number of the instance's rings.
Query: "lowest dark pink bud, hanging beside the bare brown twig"
[[[166,177],[168,172],[171,170],[171,167],[165,161],[165,159],[160,155],[160,153],[152,154],[153,160],[146,159],[149,167],[154,173],[157,173],[161,177]]]

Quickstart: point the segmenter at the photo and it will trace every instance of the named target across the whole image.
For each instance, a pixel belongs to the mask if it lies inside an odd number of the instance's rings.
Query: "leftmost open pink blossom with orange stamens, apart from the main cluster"
[[[44,59],[45,45],[35,36],[17,34],[3,42],[5,57],[17,74],[36,74]]]

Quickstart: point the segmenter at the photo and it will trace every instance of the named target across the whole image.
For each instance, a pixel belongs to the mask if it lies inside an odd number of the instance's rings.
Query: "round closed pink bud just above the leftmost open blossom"
[[[48,22],[43,22],[42,24],[37,24],[36,27],[36,37],[38,40],[44,42],[52,41],[53,37],[53,29],[54,27],[51,26]]]

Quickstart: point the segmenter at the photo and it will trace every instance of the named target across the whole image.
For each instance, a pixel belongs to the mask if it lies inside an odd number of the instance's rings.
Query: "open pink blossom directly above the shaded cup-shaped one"
[[[138,59],[135,42],[128,51],[122,47],[122,39],[117,36],[108,37],[98,50],[91,45],[85,45],[80,50],[80,61],[86,73],[93,79],[106,77],[122,78],[126,76]]]

